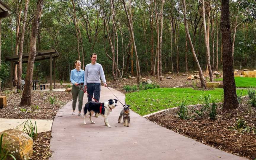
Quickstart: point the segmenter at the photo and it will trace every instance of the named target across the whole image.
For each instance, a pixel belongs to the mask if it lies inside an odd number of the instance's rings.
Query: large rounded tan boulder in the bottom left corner
[[[26,133],[14,129],[4,130],[0,135],[2,133],[4,133],[2,147],[17,160],[29,159],[33,155],[33,139]]]

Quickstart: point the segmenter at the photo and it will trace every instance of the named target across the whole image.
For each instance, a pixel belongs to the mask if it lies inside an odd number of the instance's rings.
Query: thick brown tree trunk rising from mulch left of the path
[[[20,105],[22,106],[31,105],[31,86],[32,86],[31,84],[32,84],[32,78],[33,78],[34,62],[36,58],[36,36],[39,28],[39,20],[42,14],[42,9],[43,9],[42,6],[43,6],[43,0],[38,0],[35,17],[33,21],[33,26],[32,26],[32,31],[31,31],[30,43],[29,43],[30,52],[28,56],[25,86],[24,86],[22,98],[20,100]]]

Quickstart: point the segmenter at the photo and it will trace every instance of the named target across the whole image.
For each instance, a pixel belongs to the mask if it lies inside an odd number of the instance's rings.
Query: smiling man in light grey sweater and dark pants
[[[104,86],[107,87],[105,75],[101,64],[96,63],[97,54],[92,53],[91,63],[85,66],[84,70],[84,90],[87,90],[88,102],[92,101],[92,97],[100,102],[100,78],[104,83]]]

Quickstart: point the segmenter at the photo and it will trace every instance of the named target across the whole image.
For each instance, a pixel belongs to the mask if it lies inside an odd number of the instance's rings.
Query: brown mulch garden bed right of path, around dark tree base
[[[250,107],[248,101],[249,98],[244,97],[239,107],[231,111],[223,110],[220,104],[215,120],[211,120],[207,112],[199,117],[195,111],[201,109],[200,105],[189,108],[188,113],[191,118],[188,120],[177,117],[178,108],[152,115],[148,120],[208,146],[255,159],[256,108]],[[246,121],[251,131],[238,131],[234,126],[239,119]]]

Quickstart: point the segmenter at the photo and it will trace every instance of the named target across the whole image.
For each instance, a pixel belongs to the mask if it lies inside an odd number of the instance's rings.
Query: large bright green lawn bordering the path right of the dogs
[[[239,94],[241,90],[237,91]],[[126,103],[131,109],[140,115],[147,115],[152,112],[177,107],[184,100],[185,105],[203,104],[204,96],[211,94],[212,99],[223,101],[223,89],[195,90],[191,88],[158,88],[142,90],[126,94]],[[247,89],[243,90],[247,94]]]

